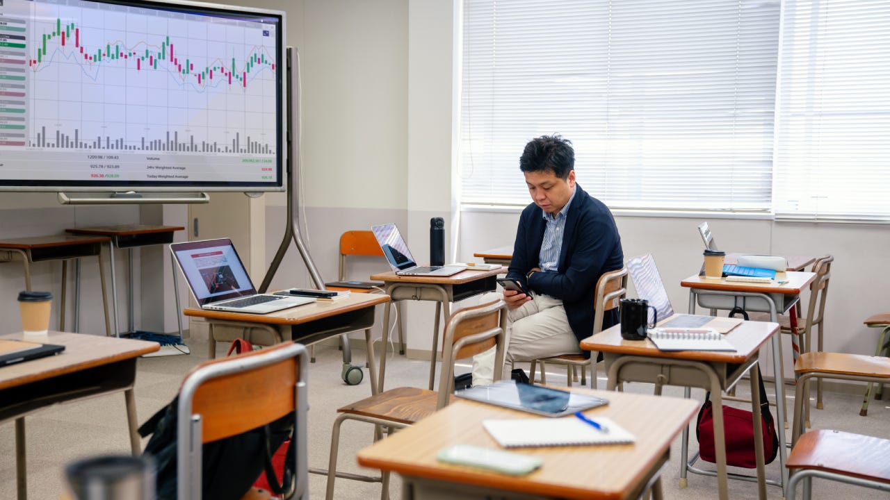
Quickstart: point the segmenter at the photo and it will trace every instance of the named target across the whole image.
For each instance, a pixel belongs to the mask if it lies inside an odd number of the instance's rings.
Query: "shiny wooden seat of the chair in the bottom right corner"
[[[785,466],[890,483],[890,440],[844,431],[809,431]]]

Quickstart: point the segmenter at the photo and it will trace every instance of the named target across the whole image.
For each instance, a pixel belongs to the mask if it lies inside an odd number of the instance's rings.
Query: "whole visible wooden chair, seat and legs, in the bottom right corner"
[[[797,440],[785,466],[791,472],[785,491],[789,500],[794,500],[801,481],[804,498],[809,500],[813,478],[890,491],[890,440],[842,431],[809,431]]]

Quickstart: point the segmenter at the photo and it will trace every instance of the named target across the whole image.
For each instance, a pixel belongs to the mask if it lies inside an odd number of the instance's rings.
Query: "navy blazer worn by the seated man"
[[[594,333],[594,299],[596,281],[603,273],[624,266],[621,238],[609,208],[591,197],[578,184],[575,198],[566,214],[565,232],[556,272],[536,272],[526,279],[532,268],[539,267],[544,240],[544,211],[534,203],[522,210],[513,259],[507,278],[518,279],[530,289],[562,299],[572,333],[585,339]],[[617,311],[603,318],[603,329],[618,323]]]

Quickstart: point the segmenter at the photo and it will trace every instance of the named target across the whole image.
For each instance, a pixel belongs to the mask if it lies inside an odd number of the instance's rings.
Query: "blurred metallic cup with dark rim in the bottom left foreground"
[[[145,456],[97,456],[65,468],[76,500],[154,500],[155,470]]]

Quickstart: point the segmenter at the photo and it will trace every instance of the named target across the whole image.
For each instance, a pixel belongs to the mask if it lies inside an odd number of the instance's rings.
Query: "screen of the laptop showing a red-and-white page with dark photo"
[[[231,239],[174,243],[171,248],[199,304],[256,293]]]

